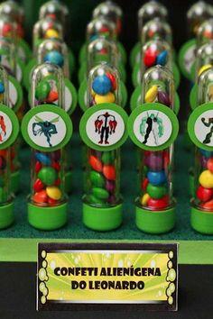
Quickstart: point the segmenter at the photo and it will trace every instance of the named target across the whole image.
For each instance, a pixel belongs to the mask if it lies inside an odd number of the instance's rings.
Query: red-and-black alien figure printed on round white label
[[[105,140],[105,144],[109,144],[108,137],[109,134],[113,134],[116,132],[116,117],[114,115],[108,114],[101,114],[97,116],[97,120],[95,121],[95,132],[100,135],[100,141],[98,144],[103,144]]]

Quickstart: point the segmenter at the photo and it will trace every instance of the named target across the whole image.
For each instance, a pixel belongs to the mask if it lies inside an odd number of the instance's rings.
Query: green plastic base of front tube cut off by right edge
[[[213,234],[213,211],[204,212],[198,208],[191,207],[190,211],[190,224],[191,227],[204,234]]]

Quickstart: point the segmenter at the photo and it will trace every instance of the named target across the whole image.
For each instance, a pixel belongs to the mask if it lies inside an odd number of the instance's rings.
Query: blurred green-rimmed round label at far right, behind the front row
[[[195,61],[196,40],[191,39],[184,43],[179,51],[179,66],[184,77],[191,80],[191,67]]]

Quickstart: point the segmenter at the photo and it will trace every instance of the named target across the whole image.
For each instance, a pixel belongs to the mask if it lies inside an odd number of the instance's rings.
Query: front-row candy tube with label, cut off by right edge
[[[190,222],[197,232],[213,233],[213,146],[212,101],[213,68],[198,78],[199,106],[190,115],[188,130],[195,143],[194,193],[191,199]]]

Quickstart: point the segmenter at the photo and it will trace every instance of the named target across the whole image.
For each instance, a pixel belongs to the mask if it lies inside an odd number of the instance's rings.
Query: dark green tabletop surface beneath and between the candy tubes
[[[191,158],[189,152],[183,150],[182,138],[176,145],[176,187],[177,197],[177,223],[173,232],[163,235],[151,235],[140,232],[134,223],[134,197],[136,196],[136,157],[134,145],[127,141],[122,150],[123,174],[122,192],[124,195],[124,223],[113,232],[94,232],[88,230],[81,223],[81,196],[82,196],[82,173],[81,173],[81,147],[80,141],[74,135],[71,141],[73,154],[73,192],[69,196],[69,223],[62,229],[52,232],[42,232],[33,229],[27,223],[26,196],[29,192],[30,151],[23,150],[21,160],[22,169],[21,189],[23,193],[15,199],[15,223],[11,228],[0,232],[0,237],[18,238],[67,238],[67,239],[132,239],[132,240],[209,240],[212,236],[201,235],[190,228],[190,205],[189,205],[189,179],[188,169]],[[27,189],[28,186],[28,189]]]

